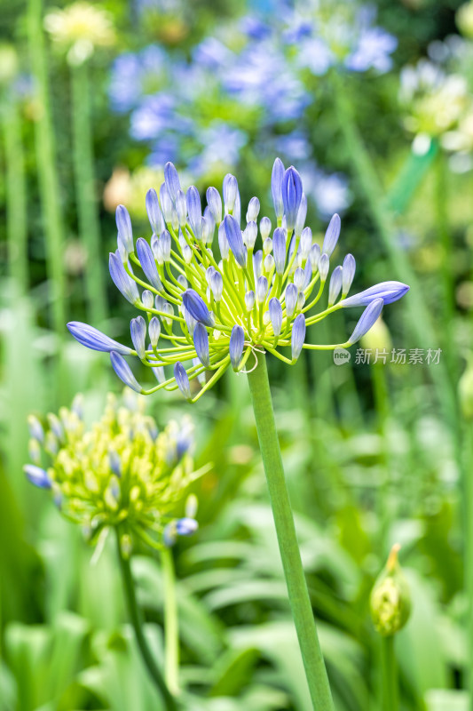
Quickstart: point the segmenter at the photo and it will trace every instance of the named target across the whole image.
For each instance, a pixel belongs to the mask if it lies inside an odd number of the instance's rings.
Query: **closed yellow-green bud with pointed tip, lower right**
[[[409,587],[398,563],[399,549],[398,543],[391,548],[386,567],[376,579],[370,597],[374,627],[384,637],[402,629],[411,612]]]

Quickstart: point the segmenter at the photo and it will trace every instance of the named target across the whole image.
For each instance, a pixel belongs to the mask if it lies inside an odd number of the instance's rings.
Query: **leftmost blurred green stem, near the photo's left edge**
[[[8,260],[10,274],[17,280],[20,292],[25,294],[28,290],[28,222],[22,122],[13,90],[4,97],[3,103]]]

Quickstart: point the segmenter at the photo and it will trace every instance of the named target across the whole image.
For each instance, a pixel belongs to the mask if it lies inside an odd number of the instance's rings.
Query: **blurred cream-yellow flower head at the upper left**
[[[44,18],[44,28],[53,41],[68,50],[72,64],[87,60],[96,47],[114,44],[112,16],[91,3],[77,2],[64,10],[52,10]]]

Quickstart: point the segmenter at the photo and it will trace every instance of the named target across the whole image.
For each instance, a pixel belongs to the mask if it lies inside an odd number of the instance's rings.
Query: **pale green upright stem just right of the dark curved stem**
[[[164,578],[164,673],[169,691],[179,691],[179,627],[177,616],[176,571],[172,551],[164,548],[161,554]]]

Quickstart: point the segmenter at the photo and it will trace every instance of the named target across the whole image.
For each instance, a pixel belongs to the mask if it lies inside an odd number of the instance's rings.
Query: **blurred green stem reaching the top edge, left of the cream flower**
[[[42,0],[29,0],[28,40],[31,72],[35,77],[38,102],[38,116],[35,121],[36,170],[43,210],[47,272],[51,281],[52,323],[54,330],[62,337],[66,326],[66,290],[62,263],[64,231],[44,51]]]

